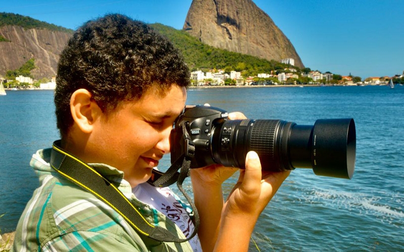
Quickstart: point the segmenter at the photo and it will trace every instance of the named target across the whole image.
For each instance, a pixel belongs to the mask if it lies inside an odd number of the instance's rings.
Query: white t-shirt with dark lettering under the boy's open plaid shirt
[[[181,229],[185,237],[192,234],[195,227],[188,215],[191,209],[182,204],[169,187],[155,187],[149,183],[141,183],[132,189],[132,193],[139,201],[166,215]],[[189,243],[194,252],[202,252],[198,235],[192,237]]]

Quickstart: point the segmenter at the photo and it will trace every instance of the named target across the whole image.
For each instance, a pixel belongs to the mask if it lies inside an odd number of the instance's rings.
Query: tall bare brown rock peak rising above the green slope
[[[268,60],[293,58],[304,68],[289,39],[251,0],[193,0],[183,29],[214,47]]]

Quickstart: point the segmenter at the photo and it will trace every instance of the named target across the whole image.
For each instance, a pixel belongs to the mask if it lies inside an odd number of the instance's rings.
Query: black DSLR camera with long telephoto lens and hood
[[[350,179],[355,169],[352,118],[298,125],[277,119],[230,120],[220,108],[185,106],[170,141],[171,163],[188,152],[186,145],[192,142],[190,168],[222,164],[242,169],[247,152],[255,151],[268,171],[311,168],[316,175]]]

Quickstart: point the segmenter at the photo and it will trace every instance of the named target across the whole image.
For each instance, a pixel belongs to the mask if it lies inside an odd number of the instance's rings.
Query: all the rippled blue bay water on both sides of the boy
[[[261,251],[404,250],[404,87],[190,89],[187,104],[210,103],[248,118],[313,125],[353,117],[357,162],[351,180],[296,169],[260,217],[252,238]],[[58,138],[53,91],[0,97],[0,228],[15,229],[38,182],[33,152]],[[169,165],[169,157],[161,163]],[[225,186],[230,190],[230,179]],[[185,186],[190,188],[190,186]],[[235,237],[236,239],[236,237]],[[258,251],[254,243],[250,251]]]

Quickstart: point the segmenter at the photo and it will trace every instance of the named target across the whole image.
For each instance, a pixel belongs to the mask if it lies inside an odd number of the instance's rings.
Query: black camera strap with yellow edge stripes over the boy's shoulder
[[[158,241],[184,242],[191,239],[197,232],[199,217],[194,204],[191,204],[194,213],[196,213],[194,232],[188,238],[179,238],[176,234],[171,233],[163,227],[150,224],[112,182],[99,174],[90,165],[63,150],[60,147],[60,140],[55,141],[53,144],[51,166],[63,177],[95,195],[98,199],[118,212],[140,235]],[[189,166],[189,157],[184,157],[177,181],[177,184],[181,184],[181,188],[180,186],[179,188],[183,194],[185,192],[182,189],[182,182],[188,175]],[[186,193],[184,196],[190,201]]]

